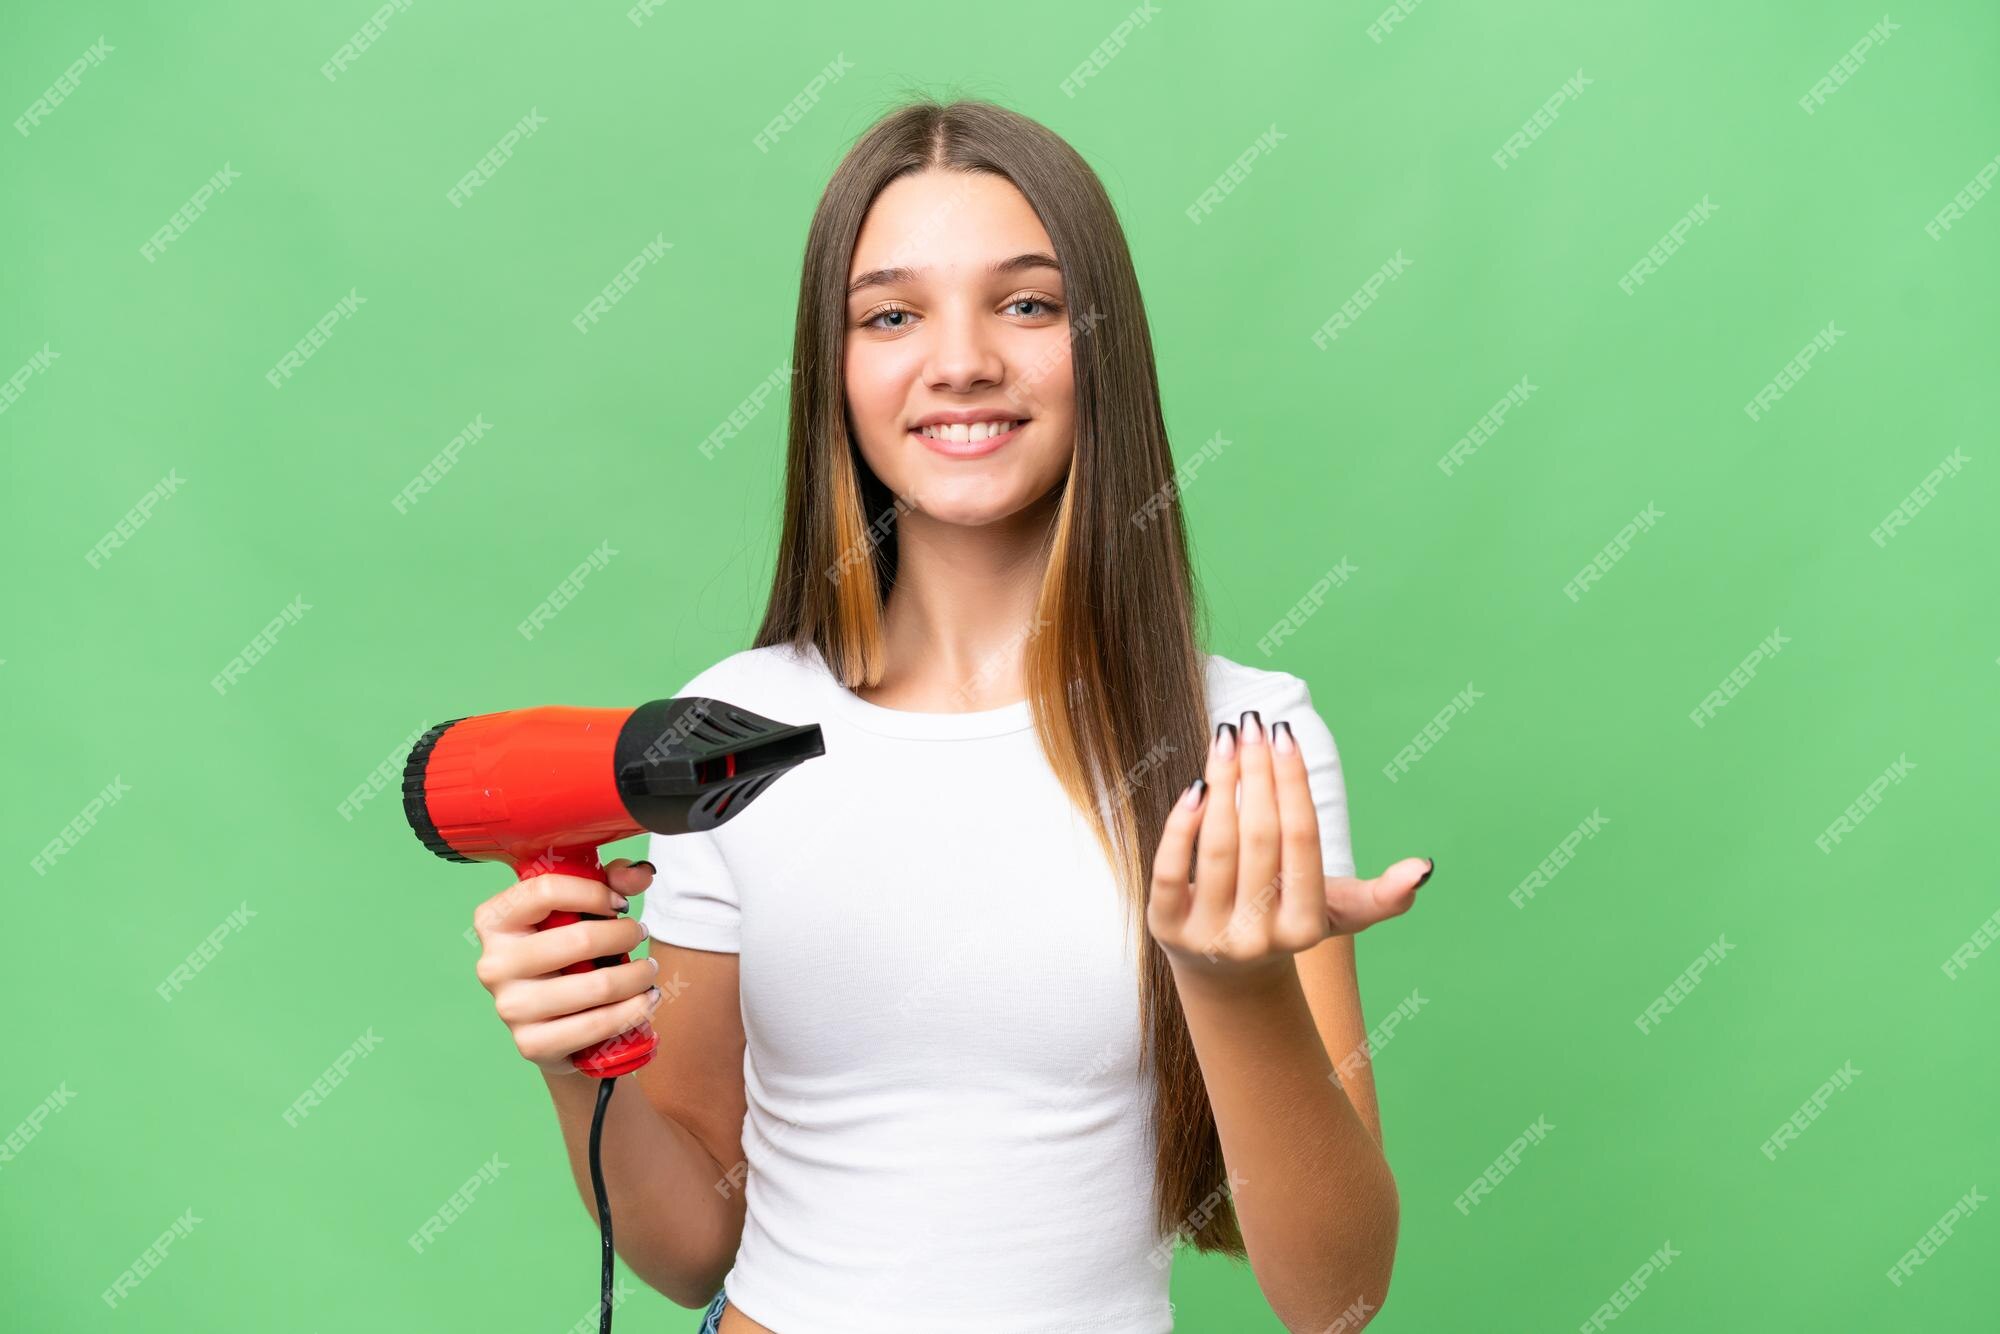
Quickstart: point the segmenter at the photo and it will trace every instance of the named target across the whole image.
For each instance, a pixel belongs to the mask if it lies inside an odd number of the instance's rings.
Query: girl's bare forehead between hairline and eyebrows
[[[934,270],[920,278],[978,280],[996,260],[1026,250],[1054,254],[1048,230],[1014,182],[992,172],[916,172],[890,182],[870,204],[848,280],[898,266]]]

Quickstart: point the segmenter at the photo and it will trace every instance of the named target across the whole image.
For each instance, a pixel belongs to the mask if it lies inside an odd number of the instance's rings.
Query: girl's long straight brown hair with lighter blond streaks
[[[884,672],[882,614],[904,504],[862,460],[842,384],[848,266],[876,194],[922,170],[992,172],[1034,206],[1070,300],[1076,456],[1048,534],[1024,676],[1034,730],[1126,890],[1154,1090],[1160,1234],[1244,1258],[1222,1144],[1172,972],[1146,930],[1168,808],[1202,768],[1208,706],[1194,572],[1160,414],[1146,308],[1096,172],[1052,130],[992,102],[910,100],[834,170],[812,216],[792,344],[784,536],[756,648],[816,646],[848,688]],[[1174,756],[1162,762],[1160,756]]]

